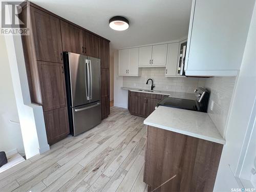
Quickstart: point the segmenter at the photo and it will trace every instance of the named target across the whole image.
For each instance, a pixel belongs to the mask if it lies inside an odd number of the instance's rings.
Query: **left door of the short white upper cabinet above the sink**
[[[139,48],[139,67],[151,66],[152,46]]]

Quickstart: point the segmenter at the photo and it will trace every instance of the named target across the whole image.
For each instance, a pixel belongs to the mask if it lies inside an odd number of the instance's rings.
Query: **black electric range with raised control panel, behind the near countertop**
[[[162,105],[169,106],[172,108],[180,108],[185,110],[200,111],[206,113],[208,97],[208,91],[206,91],[203,88],[197,88],[195,90],[195,99],[174,98],[172,97],[172,95],[170,95],[170,97],[165,97],[163,100],[157,103],[156,107]]]

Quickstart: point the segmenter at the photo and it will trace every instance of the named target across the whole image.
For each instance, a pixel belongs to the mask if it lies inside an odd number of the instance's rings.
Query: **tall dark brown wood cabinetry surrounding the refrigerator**
[[[31,102],[42,106],[48,143],[54,144],[70,133],[62,52],[101,59],[101,82],[105,85],[102,118],[106,118],[110,114],[110,41],[33,3],[24,6],[18,15],[26,21],[27,12],[30,14],[30,35],[23,35],[22,42]]]

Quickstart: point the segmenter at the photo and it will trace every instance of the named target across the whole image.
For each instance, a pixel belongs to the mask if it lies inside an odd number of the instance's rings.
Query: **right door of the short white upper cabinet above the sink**
[[[151,66],[166,66],[167,44],[156,45],[152,48]]]

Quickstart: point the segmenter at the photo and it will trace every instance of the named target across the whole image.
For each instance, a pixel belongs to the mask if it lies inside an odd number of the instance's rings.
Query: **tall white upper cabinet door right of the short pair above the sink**
[[[179,58],[179,42],[168,44],[167,61],[166,61],[166,69],[165,69],[166,77],[176,76],[178,58]]]

